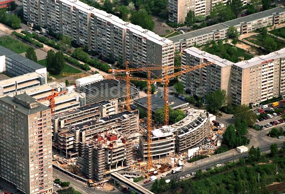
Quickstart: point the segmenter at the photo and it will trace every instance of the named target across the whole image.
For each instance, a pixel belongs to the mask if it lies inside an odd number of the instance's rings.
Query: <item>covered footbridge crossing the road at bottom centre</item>
[[[111,173],[111,178],[115,181],[121,183],[122,185],[125,185],[127,187],[130,187],[131,190],[139,193],[139,194],[154,194],[148,189],[142,187],[141,185],[131,181],[130,179],[126,178],[125,176],[119,174],[118,172]]]

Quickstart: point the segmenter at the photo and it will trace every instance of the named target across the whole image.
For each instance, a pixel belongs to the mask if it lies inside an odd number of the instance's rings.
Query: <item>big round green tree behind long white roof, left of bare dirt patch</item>
[[[154,21],[152,20],[151,15],[148,15],[144,9],[140,9],[139,11],[133,12],[130,20],[133,24],[139,25],[142,28],[153,30],[154,29]]]

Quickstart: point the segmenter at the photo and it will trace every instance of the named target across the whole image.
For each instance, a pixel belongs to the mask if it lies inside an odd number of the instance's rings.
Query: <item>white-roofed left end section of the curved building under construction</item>
[[[167,156],[174,156],[175,153],[175,136],[170,130],[165,130],[167,126],[161,129],[151,131],[151,157],[152,160],[162,159]],[[173,129],[174,130],[174,129]],[[143,160],[147,161],[148,142],[147,135],[139,137],[139,148]]]

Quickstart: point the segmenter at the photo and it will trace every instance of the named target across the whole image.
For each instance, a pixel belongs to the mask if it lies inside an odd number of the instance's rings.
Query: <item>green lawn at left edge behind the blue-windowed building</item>
[[[6,47],[18,54],[25,53],[29,46],[24,44],[23,42],[13,39],[10,36],[2,36],[0,37],[0,45]]]

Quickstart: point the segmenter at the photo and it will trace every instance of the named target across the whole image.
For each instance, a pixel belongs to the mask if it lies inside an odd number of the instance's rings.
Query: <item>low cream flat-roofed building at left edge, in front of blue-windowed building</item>
[[[0,81],[0,96],[20,94],[22,90],[27,90],[45,83],[45,76],[36,72],[12,77]]]

